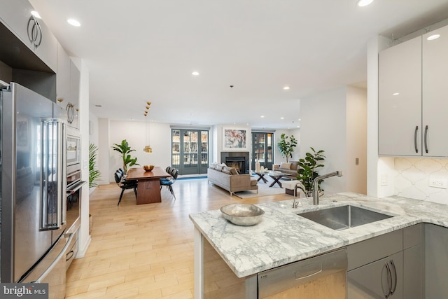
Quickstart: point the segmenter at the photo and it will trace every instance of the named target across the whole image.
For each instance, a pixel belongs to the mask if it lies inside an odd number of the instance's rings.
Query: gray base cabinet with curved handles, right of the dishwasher
[[[347,298],[424,298],[423,233],[423,224],[412,225],[348,246]],[[448,233],[446,241],[447,250]]]

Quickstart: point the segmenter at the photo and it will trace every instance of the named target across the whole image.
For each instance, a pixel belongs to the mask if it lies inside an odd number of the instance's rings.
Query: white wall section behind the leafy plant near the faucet
[[[336,170],[346,173],[346,88],[337,88],[300,100],[300,155],[325,151],[319,174]],[[325,193],[348,191],[347,176],[325,179]]]

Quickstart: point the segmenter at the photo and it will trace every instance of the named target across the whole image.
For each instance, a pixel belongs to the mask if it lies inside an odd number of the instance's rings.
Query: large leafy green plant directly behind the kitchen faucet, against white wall
[[[318,168],[323,167],[323,164],[321,164],[323,160],[325,160],[323,151],[314,151],[314,148],[311,148],[311,153],[306,153],[305,158],[299,159],[297,163],[299,165],[297,180],[302,183],[302,186],[299,186],[299,188],[302,189],[306,197],[313,196],[313,182],[319,175]],[[319,191],[321,190],[321,182],[319,181],[318,183]]]

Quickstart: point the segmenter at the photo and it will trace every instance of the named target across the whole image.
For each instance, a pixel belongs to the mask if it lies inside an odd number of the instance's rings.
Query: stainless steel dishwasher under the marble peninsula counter
[[[346,249],[257,274],[258,298],[345,299]]]

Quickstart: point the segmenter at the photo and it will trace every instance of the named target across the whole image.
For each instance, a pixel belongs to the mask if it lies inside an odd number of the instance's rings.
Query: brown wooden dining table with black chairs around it
[[[137,204],[162,202],[160,195],[160,179],[171,176],[162,167],[154,167],[151,172],[143,168],[131,168],[127,171],[126,180],[137,180]]]

